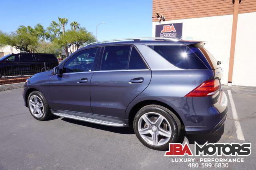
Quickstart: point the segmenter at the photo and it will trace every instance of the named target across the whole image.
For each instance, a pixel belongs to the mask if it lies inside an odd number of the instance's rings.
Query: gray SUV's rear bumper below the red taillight
[[[216,96],[182,98],[168,103],[180,116],[187,134],[214,133],[224,125],[228,99],[223,91]]]

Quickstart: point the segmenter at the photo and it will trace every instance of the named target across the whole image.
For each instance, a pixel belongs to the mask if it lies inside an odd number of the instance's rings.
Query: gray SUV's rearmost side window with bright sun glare
[[[195,53],[185,45],[155,45],[149,47],[178,68],[208,69]]]

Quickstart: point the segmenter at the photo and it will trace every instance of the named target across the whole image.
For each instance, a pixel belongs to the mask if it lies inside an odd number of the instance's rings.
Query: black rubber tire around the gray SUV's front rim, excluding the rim
[[[42,111],[42,116],[41,116],[41,117],[36,117],[36,116],[32,113],[32,111],[31,111],[31,109],[30,109],[30,103],[29,103],[29,101],[30,101],[30,98],[31,98],[32,96],[37,96],[37,97],[40,99],[40,101],[42,102],[43,106],[44,106],[44,107],[43,107],[44,109],[43,109],[43,111]],[[52,113],[51,113],[51,111],[50,111],[50,107],[49,107],[49,105],[48,105],[48,102],[46,101],[44,95],[43,95],[41,92],[39,92],[39,91],[33,91],[33,92],[31,92],[31,93],[29,94],[29,96],[28,96],[28,101],[27,101],[27,103],[28,103],[28,109],[29,109],[31,115],[32,115],[35,119],[40,120],[40,121],[44,121],[44,120],[48,120],[48,119],[52,116]]]

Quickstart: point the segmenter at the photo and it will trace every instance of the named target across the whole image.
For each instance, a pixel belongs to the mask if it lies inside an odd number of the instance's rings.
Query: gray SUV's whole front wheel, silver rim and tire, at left
[[[41,92],[33,91],[28,96],[28,109],[37,120],[47,120],[52,116],[50,107]]]

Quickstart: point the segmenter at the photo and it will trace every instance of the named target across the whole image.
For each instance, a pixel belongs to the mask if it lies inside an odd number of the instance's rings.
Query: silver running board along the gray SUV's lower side
[[[81,117],[81,116],[76,116],[76,115],[68,115],[66,113],[58,113],[58,112],[52,112],[52,114],[60,117],[66,117],[70,119],[75,119],[75,120],[80,120],[80,121],[86,121],[90,123],[96,123],[100,125],[106,125],[106,126],[117,126],[117,127],[123,127],[125,124],[122,123],[115,123],[111,121],[104,121],[104,120],[99,120],[99,119],[92,119],[88,117]]]

